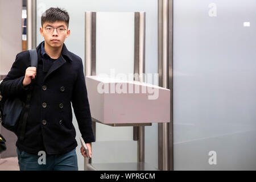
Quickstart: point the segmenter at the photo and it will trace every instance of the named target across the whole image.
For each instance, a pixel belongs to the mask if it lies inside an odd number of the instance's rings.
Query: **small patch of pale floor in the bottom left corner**
[[[19,171],[18,158],[0,159],[0,171]]]

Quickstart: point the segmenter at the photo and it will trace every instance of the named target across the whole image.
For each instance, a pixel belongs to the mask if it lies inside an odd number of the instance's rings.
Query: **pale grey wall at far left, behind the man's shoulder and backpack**
[[[0,0],[0,75],[7,75],[22,51],[22,1]],[[0,77],[1,78],[1,77]],[[0,125],[1,134],[6,138],[7,150],[1,158],[16,156],[16,136]]]

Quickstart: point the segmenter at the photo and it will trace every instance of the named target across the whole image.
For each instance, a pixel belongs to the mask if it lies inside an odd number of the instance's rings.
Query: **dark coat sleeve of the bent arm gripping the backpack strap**
[[[26,65],[22,61],[22,56],[18,53],[10,71],[0,84],[1,95],[3,97],[18,97],[27,93],[29,87],[24,87],[22,84],[25,73]]]

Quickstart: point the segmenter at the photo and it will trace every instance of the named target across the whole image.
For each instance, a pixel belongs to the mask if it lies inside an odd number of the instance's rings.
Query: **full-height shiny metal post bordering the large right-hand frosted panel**
[[[158,73],[159,86],[172,88],[172,7],[173,0],[158,1]],[[170,31],[171,28],[171,31]],[[171,89],[171,96],[173,90]],[[171,122],[159,123],[158,166],[160,170],[173,170],[173,137],[172,137],[172,97],[171,97]]]

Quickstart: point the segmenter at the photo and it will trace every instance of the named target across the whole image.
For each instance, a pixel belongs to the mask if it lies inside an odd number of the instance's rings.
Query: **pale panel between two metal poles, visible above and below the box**
[[[134,12],[97,12],[96,17],[96,75],[129,78],[134,73]],[[96,123],[96,137],[97,141],[132,140],[133,127]]]

